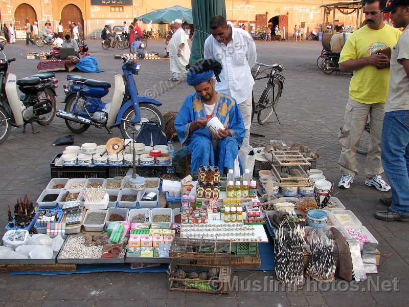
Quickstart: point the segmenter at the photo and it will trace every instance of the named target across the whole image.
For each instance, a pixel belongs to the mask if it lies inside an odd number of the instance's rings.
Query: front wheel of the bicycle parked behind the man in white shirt
[[[258,102],[257,122],[264,125],[278,104],[278,100],[283,90],[283,84],[279,80],[274,80],[273,84],[268,84],[267,89],[263,91]]]

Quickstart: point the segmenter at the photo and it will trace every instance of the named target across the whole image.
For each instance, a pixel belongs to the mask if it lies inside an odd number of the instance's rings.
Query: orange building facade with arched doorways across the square
[[[292,0],[292,1],[236,1],[226,0],[226,14],[229,20],[245,23],[245,21],[260,21],[253,23],[263,29],[268,23],[286,27],[287,36],[291,36],[294,25],[302,25],[304,33],[314,30],[322,31],[325,20],[320,5],[331,3],[331,0]],[[135,16],[140,16],[157,9],[174,5],[191,8],[191,0],[32,0],[21,3],[17,0],[0,0],[0,18],[3,24],[14,24],[17,38],[25,38],[24,24],[29,19],[38,21],[42,29],[44,23],[50,20],[56,31],[62,21],[64,30],[68,29],[69,21],[80,21],[87,38],[100,38],[104,25],[129,24]],[[332,15],[331,15],[332,17]],[[355,25],[356,14],[344,15],[335,12],[335,19],[340,24]],[[144,26],[146,28],[146,25]],[[156,30],[160,25],[154,25]],[[162,26],[163,27],[163,26]],[[247,29],[251,29],[248,24]]]

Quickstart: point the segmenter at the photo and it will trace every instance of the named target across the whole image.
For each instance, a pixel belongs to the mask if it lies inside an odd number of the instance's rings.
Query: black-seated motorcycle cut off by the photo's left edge
[[[58,87],[58,79],[55,73],[39,73],[31,77],[17,80],[16,75],[7,73],[9,64],[15,58],[7,59],[3,52],[4,46],[0,44],[0,51],[4,59],[0,59],[0,144],[3,143],[10,134],[11,126],[24,126],[31,124],[33,133],[33,122],[41,126],[52,122],[57,108],[55,99],[55,89]],[[18,89],[24,95],[18,97]]]

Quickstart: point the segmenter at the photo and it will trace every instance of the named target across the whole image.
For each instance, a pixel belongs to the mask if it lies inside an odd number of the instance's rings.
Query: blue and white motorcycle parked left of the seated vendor
[[[69,84],[64,85],[66,94],[64,111],[58,110],[57,117],[74,133],[85,132],[90,125],[105,128],[119,127],[126,139],[137,138],[139,129],[147,121],[155,121],[165,128],[165,120],[156,106],[161,102],[138,96],[133,75],[138,75],[140,64],[136,60],[122,57],[122,75],[115,76],[115,90],[111,102],[101,100],[109,92],[108,82],[86,79],[78,75],[67,75]]]

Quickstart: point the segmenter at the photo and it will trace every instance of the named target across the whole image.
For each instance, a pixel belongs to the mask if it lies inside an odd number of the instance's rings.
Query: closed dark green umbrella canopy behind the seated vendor
[[[210,18],[216,15],[226,17],[226,5],[224,0],[192,0],[193,34],[192,50],[189,65],[203,59],[203,47],[205,40],[210,35]]]

